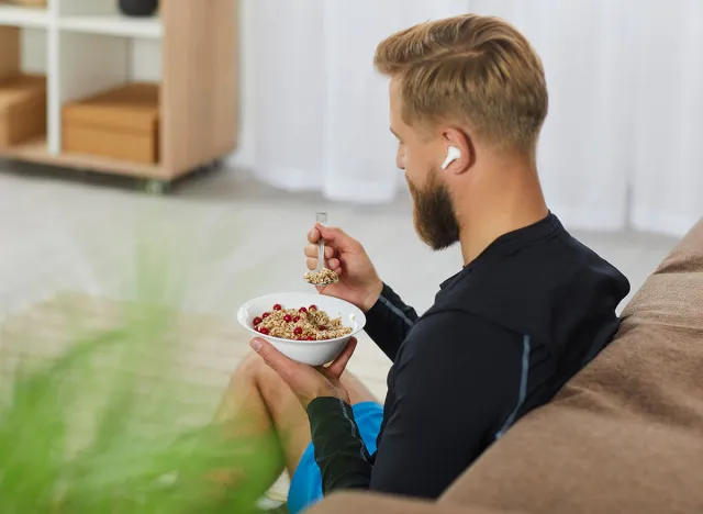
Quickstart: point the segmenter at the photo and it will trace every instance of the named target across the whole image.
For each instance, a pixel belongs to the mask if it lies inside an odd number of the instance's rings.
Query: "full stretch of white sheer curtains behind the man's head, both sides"
[[[404,181],[376,45],[420,21],[480,12],[514,23],[544,60],[550,113],[539,167],[568,225],[680,234],[703,213],[703,1],[244,3],[245,134],[266,182],[390,201]]]

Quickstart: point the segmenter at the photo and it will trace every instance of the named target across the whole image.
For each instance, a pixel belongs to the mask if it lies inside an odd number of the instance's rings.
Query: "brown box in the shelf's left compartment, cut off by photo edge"
[[[46,78],[20,75],[0,81],[0,148],[46,134]]]

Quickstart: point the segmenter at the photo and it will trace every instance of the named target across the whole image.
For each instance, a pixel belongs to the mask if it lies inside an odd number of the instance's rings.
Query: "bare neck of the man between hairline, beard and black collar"
[[[457,209],[465,266],[502,235],[549,214],[537,170],[520,161],[486,170],[465,200]]]

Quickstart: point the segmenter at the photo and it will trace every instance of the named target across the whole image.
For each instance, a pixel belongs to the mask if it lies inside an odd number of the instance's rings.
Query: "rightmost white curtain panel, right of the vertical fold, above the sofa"
[[[632,221],[681,234],[703,214],[703,1],[647,1],[639,9]]]

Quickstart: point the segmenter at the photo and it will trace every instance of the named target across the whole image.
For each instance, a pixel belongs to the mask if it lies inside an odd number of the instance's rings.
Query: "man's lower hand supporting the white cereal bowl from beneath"
[[[258,337],[252,340],[252,348],[283,379],[303,409],[306,410],[310,402],[320,396],[338,398],[350,403],[349,393],[342,386],[339,377],[356,349],[356,338],[349,339],[347,346],[328,367],[317,368],[289,359],[270,343]]]

